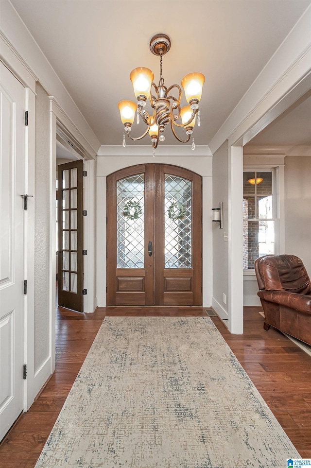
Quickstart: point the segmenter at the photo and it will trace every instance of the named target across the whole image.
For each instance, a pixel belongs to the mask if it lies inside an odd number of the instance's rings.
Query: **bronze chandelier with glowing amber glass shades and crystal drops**
[[[138,67],[131,71],[130,79],[133,83],[134,94],[137,98],[137,103],[133,101],[120,101],[118,104],[121,121],[124,124],[124,134],[122,144],[125,147],[125,133],[133,141],[144,138],[147,133],[151,137],[151,143],[154,148],[153,155],[155,156],[155,148],[159,140],[164,141],[164,130],[167,124],[171,124],[171,129],[174,137],[181,143],[187,143],[193,134],[196,115],[198,114],[197,124],[200,126],[200,110],[199,101],[202,96],[202,87],[205,82],[205,76],[202,73],[189,73],[181,80],[181,86],[184,88],[185,97],[189,105],[180,107],[182,90],[178,85],[172,85],[167,88],[164,85],[162,76],[162,57],[171,47],[171,40],[165,34],[155,35],[150,41],[150,50],[152,53],[160,57],[160,79],[158,86],[153,82],[154,73],[144,67]],[[178,97],[170,95],[175,88]],[[155,94],[153,94],[155,92]],[[150,100],[150,105],[153,109],[150,114],[145,110],[147,100]],[[137,138],[130,136],[132,124],[135,120],[137,112],[137,123],[140,119],[144,121],[147,128],[145,132]],[[178,119],[181,118],[181,123]],[[186,130],[186,139],[181,139],[176,135],[174,127],[183,127]],[[195,149],[194,138],[192,137],[191,149]]]

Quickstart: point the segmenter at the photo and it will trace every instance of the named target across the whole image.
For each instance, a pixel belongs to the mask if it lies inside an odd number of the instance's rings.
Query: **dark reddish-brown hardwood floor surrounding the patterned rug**
[[[263,330],[259,308],[245,308],[244,334],[212,317],[302,458],[311,458],[311,356],[276,329]],[[56,310],[56,370],[0,445],[0,467],[33,468],[106,315],[206,315],[202,307],[107,307],[92,314]],[[287,454],[285,454],[287,455]],[[290,454],[288,454],[290,456]]]

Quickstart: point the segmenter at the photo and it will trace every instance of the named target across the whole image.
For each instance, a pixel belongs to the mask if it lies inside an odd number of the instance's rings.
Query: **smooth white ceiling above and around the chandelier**
[[[122,99],[135,100],[130,71],[138,66],[148,67],[158,81],[158,58],[149,50],[154,34],[162,32],[172,40],[171,50],[163,58],[167,86],[180,84],[190,71],[201,71],[206,76],[200,102],[202,123],[200,128],[196,126],[194,136],[196,144],[207,145],[311,3],[11,1],[105,145],[121,144],[123,126],[117,104]],[[304,112],[308,113],[310,104],[306,106]],[[142,129],[138,130],[134,126],[132,136],[142,133]],[[288,137],[288,132],[282,132],[283,137]],[[165,144],[176,144],[170,129],[165,135]],[[270,142],[274,137],[276,134],[267,129],[265,138]]]

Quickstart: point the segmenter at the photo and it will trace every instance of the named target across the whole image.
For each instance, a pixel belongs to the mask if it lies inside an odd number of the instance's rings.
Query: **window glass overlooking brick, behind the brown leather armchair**
[[[276,171],[243,172],[243,269],[254,270],[254,261],[277,252]]]

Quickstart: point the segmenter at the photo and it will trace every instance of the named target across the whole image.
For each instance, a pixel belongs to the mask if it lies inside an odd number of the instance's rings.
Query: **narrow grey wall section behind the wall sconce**
[[[213,208],[224,203],[224,229],[212,223],[213,229],[213,297],[212,307],[223,319],[228,318],[228,242],[224,233],[228,233],[228,142],[213,156]],[[209,213],[211,218],[211,213]],[[226,296],[226,304],[223,302]]]

